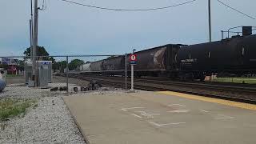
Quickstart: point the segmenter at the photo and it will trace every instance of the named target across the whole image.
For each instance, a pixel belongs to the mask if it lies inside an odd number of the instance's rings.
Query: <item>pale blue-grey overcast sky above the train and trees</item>
[[[171,6],[187,0],[70,0],[125,9]],[[42,0],[38,0],[42,6]],[[195,44],[208,41],[207,0],[167,10],[120,12],[46,0],[39,11],[38,45],[50,54],[125,54],[167,43]],[[256,17],[255,0],[222,0]],[[0,56],[21,55],[29,40],[30,0],[0,0]],[[256,26],[247,18],[212,0],[213,40],[220,30]]]

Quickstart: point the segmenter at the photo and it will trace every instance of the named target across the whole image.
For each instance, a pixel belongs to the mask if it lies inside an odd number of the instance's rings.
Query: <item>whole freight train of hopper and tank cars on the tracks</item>
[[[138,51],[134,75],[200,79],[215,74],[256,74],[256,35],[235,36],[196,45],[168,44]],[[82,74],[123,75],[129,57],[86,64]],[[130,73],[130,65],[128,73]]]

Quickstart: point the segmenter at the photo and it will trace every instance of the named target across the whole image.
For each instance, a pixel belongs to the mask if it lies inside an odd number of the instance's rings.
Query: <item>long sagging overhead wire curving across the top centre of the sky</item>
[[[176,6],[186,5],[186,4],[188,4],[188,3],[195,2],[195,1],[197,1],[197,0],[191,0],[191,1],[187,1],[187,2],[178,3],[178,4],[173,5],[173,6],[163,6],[163,7],[155,7],[155,8],[148,8],[148,9],[115,9],[115,8],[110,8],[110,7],[86,5],[86,4],[83,4],[83,3],[73,2],[73,1],[70,1],[70,0],[60,0],[60,1],[69,2],[69,3],[75,4],[75,5],[79,5],[79,6],[87,6],[87,7],[94,8],[94,9],[101,9],[101,10],[114,10],[114,11],[149,11],[149,10],[170,9],[170,8],[173,8],[173,7],[176,7]]]

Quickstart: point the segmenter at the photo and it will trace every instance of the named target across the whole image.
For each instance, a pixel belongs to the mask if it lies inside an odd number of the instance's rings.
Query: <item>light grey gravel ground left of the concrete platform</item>
[[[86,143],[78,130],[61,92],[16,86],[0,98],[35,98],[24,117],[0,123],[0,143]]]

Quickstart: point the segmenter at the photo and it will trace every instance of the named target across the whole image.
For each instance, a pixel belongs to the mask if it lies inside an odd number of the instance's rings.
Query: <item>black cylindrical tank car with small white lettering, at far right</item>
[[[211,73],[244,74],[256,70],[256,35],[184,46],[178,51],[182,77],[204,79]]]

